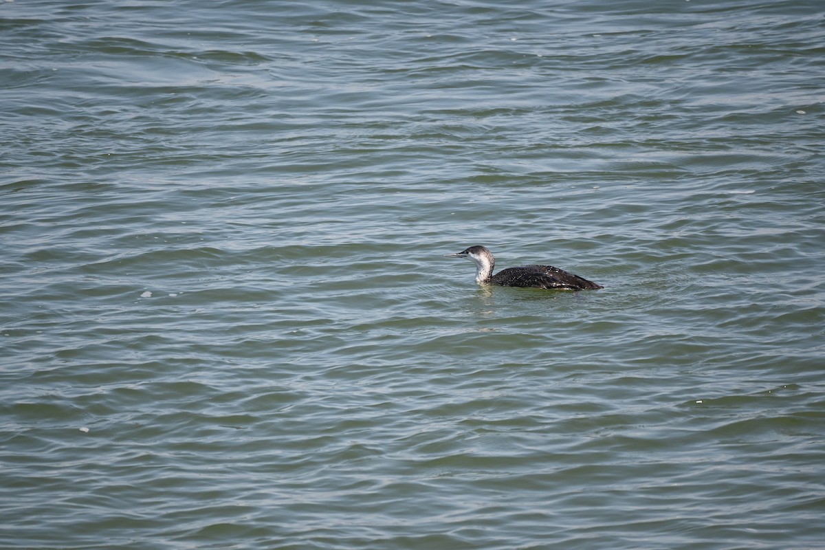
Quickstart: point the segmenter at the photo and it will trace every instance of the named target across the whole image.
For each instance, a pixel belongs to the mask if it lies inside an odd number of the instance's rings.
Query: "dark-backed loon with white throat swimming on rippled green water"
[[[475,282],[499,286],[521,286],[533,289],[587,290],[603,289],[601,284],[573,275],[553,266],[509,267],[493,275],[496,260],[486,247],[469,247],[458,254],[446,254],[448,258],[467,258],[475,262]]]

